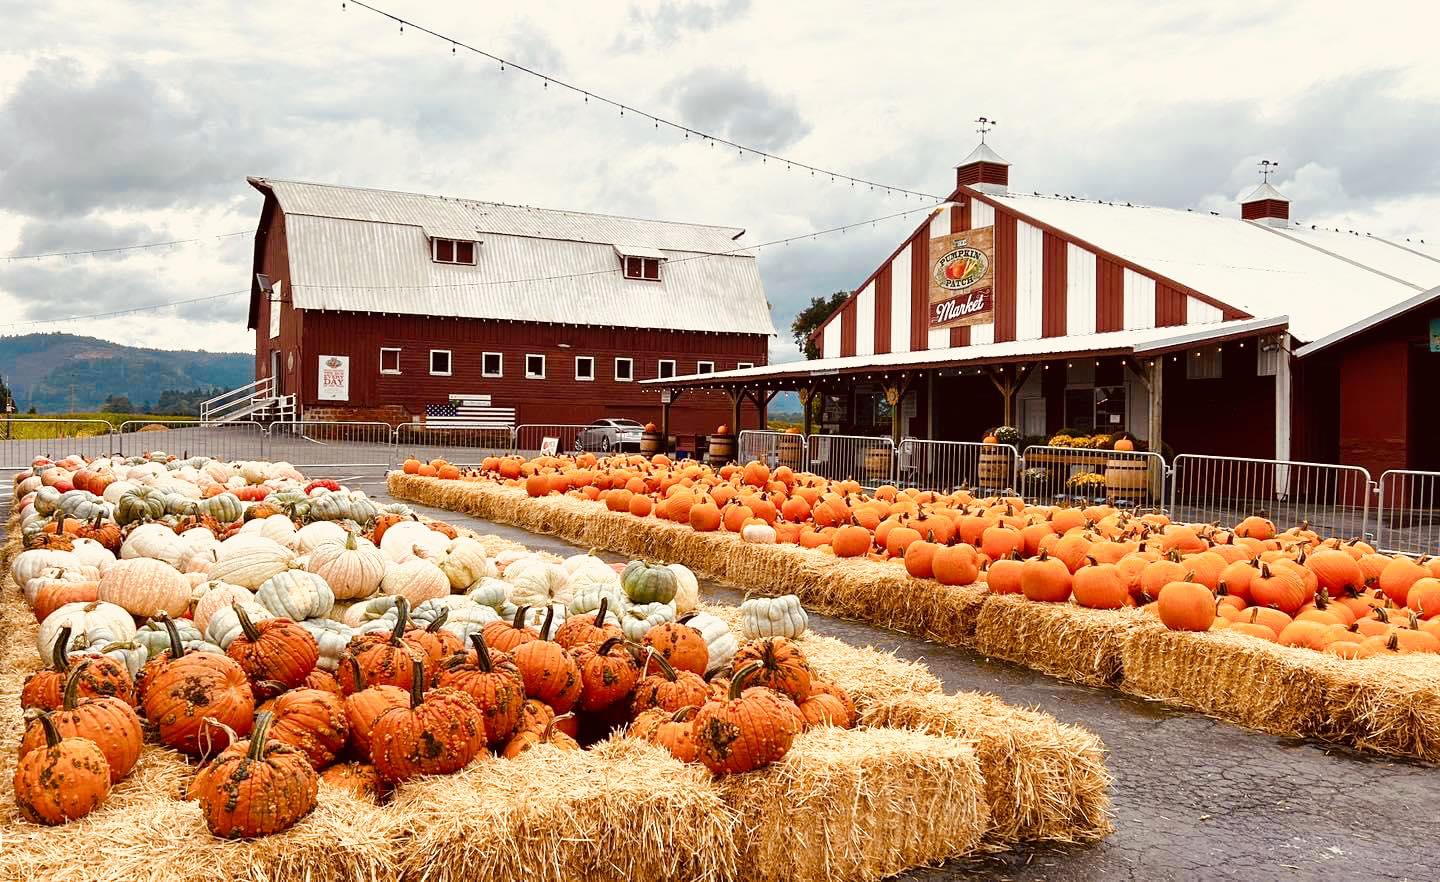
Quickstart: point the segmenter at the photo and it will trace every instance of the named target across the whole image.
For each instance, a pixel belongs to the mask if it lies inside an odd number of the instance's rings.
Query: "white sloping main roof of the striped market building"
[[[1251,316],[1287,314],[1303,343],[1440,285],[1440,254],[1427,245],[1166,208],[991,199]]]

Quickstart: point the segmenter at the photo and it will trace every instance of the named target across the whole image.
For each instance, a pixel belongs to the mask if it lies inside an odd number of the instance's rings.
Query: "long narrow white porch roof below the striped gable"
[[[1237,318],[1214,324],[1187,324],[1178,327],[1153,327],[1143,330],[1104,331],[1099,334],[1074,334],[1067,337],[1041,337],[1038,340],[1007,340],[1005,343],[984,343],[976,346],[952,346],[922,352],[893,352],[886,355],[844,356],[835,359],[814,359],[808,362],[786,362],[763,365],[739,370],[716,373],[691,373],[664,379],[641,380],[641,385],[667,388],[704,386],[747,386],[762,383],[785,383],[834,375],[874,373],[876,370],[930,370],[942,368],[963,368],[979,365],[1007,365],[1015,362],[1045,360],[1066,356],[1149,356],[1207,343],[1224,343],[1240,337],[1283,331],[1289,326],[1286,316],[1272,318]]]

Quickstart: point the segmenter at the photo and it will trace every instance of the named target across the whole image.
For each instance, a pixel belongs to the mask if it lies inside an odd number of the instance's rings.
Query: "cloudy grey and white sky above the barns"
[[[736,141],[948,193],[978,115],[1011,186],[1440,238],[1433,3],[376,4]],[[0,333],[249,350],[246,174],[736,225],[749,242],[917,208],[657,130],[341,0],[0,0]],[[780,336],[914,216],[760,252]],[[245,235],[213,238],[220,233]]]

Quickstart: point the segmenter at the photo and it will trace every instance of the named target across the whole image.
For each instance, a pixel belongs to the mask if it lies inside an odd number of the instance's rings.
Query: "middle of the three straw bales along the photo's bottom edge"
[[[721,881],[736,813],[704,767],[631,739],[537,747],[402,787],[400,875],[428,882]]]

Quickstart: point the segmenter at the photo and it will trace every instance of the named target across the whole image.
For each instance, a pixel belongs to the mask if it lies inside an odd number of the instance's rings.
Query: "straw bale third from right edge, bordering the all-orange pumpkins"
[[[975,649],[1086,686],[1113,686],[1122,677],[1126,637],[1153,630],[1165,625],[1135,610],[1086,610],[995,595],[975,621]]]

